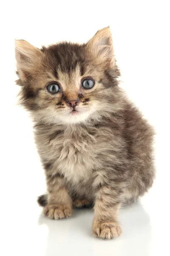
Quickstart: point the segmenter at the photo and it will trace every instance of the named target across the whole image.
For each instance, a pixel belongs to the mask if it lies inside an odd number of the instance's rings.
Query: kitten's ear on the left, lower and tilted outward
[[[34,47],[24,40],[15,40],[15,57],[17,60],[17,71],[22,81],[34,73],[35,67],[42,56],[40,49]]]

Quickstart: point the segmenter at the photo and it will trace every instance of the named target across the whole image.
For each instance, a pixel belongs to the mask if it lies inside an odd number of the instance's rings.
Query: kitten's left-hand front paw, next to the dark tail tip
[[[51,219],[68,218],[73,214],[73,210],[67,204],[49,204],[44,207],[43,213]]]

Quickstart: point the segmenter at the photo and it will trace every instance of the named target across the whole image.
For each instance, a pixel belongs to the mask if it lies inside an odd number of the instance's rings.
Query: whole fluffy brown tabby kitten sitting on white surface
[[[86,44],[16,41],[20,102],[31,113],[47,181],[44,215],[94,205],[94,236],[121,233],[117,217],[152,186],[153,128],[118,86],[110,28]]]

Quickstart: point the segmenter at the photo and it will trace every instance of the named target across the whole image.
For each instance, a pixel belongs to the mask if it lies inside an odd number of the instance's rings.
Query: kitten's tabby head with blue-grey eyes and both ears
[[[62,42],[38,49],[17,40],[16,59],[21,102],[35,120],[84,123],[119,105],[119,70],[109,27],[87,44]]]

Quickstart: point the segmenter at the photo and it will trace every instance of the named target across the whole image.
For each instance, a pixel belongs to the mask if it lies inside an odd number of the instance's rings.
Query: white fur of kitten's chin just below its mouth
[[[89,116],[90,116],[90,113],[88,111],[83,113],[79,113],[75,111],[75,112],[69,113],[68,115],[61,115],[59,116],[59,119],[64,124],[77,124],[77,123],[85,122],[89,118]]]

